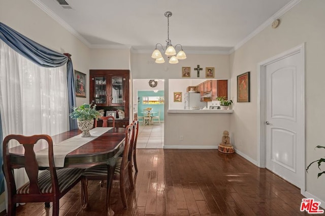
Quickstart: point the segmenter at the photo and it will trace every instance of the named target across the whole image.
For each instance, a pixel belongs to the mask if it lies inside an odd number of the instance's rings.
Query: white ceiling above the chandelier
[[[248,38],[300,0],[30,0],[90,48],[132,48],[152,52],[169,37],[188,52],[223,52]]]

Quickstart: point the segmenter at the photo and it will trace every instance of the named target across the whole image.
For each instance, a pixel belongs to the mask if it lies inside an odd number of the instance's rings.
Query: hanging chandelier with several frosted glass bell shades
[[[165,59],[164,57],[161,55],[160,51],[158,50],[157,46],[160,45],[161,49],[163,50],[163,52],[165,52],[165,55],[167,56],[167,59],[169,59],[169,63],[170,64],[177,64],[178,63],[178,59],[182,60],[182,59],[186,59],[186,55],[183,51],[183,47],[180,44],[177,44],[175,46],[175,48],[172,45],[172,41],[169,39],[169,18],[172,16],[172,12],[166,12],[165,13],[165,17],[167,17],[167,44],[166,44],[166,52],[164,50],[163,45],[161,44],[156,44],[156,49],[152,52],[151,58],[155,59],[155,63],[164,63]],[[176,47],[179,46],[180,47],[180,51],[177,53],[176,55]]]

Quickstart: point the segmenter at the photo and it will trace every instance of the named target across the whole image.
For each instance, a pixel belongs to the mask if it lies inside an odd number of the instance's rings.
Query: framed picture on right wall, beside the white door
[[[249,72],[237,76],[237,102],[250,102]]]

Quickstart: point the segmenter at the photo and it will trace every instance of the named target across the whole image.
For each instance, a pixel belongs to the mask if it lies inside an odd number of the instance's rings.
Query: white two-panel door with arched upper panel
[[[301,188],[304,148],[302,53],[266,66],[266,168]]]

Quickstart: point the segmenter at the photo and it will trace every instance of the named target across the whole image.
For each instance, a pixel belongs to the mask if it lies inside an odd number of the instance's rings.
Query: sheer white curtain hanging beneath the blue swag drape
[[[67,66],[40,67],[0,40],[3,136],[56,135],[69,130]],[[17,187],[25,182],[24,174]]]

